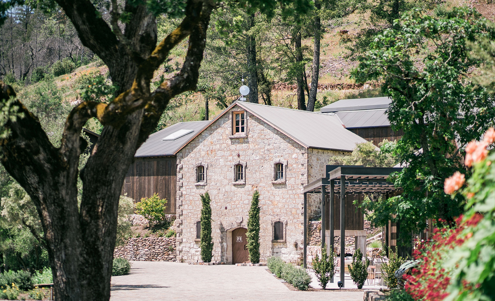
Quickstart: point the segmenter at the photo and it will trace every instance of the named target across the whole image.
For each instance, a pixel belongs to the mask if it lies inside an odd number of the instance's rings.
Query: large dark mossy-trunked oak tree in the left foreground
[[[310,9],[309,0],[280,1],[286,15]],[[0,16],[11,5],[0,4]],[[34,202],[40,215],[55,284],[55,298],[109,300],[117,226],[117,207],[125,173],[136,149],[156,128],[167,103],[196,89],[210,15],[224,5],[251,5],[273,15],[277,0],[144,1],[111,0],[99,11],[90,0],[56,0],[81,42],[108,66],[115,98],[108,104],[85,101],[70,112],[61,144],[55,147],[38,119],[0,81],[0,160]],[[99,5],[105,7],[105,5]],[[157,43],[155,16],[182,22]],[[110,16],[106,22],[102,16]],[[153,72],[176,45],[189,37],[182,69],[151,91]],[[78,164],[86,142],[81,130],[90,118],[104,126],[80,172],[83,193],[77,202]]]

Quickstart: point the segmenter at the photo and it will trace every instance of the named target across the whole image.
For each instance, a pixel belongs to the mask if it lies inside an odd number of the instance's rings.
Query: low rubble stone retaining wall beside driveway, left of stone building
[[[177,261],[175,237],[135,237],[115,248],[113,257],[136,261]]]

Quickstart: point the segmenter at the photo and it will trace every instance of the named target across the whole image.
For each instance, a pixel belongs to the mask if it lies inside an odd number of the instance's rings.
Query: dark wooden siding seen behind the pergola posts
[[[353,204],[354,200],[364,200],[363,194],[346,195],[346,230],[364,230],[364,215],[360,208]],[[325,204],[325,228],[330,230],[330,198]],[[334,230],[340,230],[340,194],[334,194]],[[357,210],[356,210],[357,209]]]

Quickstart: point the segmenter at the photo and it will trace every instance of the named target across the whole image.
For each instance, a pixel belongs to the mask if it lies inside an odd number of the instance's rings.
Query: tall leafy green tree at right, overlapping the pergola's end
[[[443,182],[463,169],[458,154],[495,116],[494,97],[464,76],[481,63],[470,55],[469,43],[495,38],[485,22],[469,8],[454,8],[442,18],[416,9],[377,36],[359,58],[352,77],[384,82],[383,93],[393,99],[391,127],[404,132],[389,149],[406,166],[395,177],[404,193],[368,203],[368,210],[381,210],[373,222],[400,221],[401,232],[410,233],[422,229],[426,218],[453,221],[462,212],[463,197],[447,196]]]

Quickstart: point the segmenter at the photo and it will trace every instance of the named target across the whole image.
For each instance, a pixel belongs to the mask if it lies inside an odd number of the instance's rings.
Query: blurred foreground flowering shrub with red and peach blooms
[[[445,180],[445,192],[455,196],[459,189],[466,200],[466,214],[454,227],[436,228],[431,243],[419,242],[413,257],[422,265],[407,277],[405,291],[414,300],[479,301],[494,300],[495,292],[495,130],[466,147],[466,166],[472,176],[455,172]],[[444,222],[439,220],[439,222]]]

